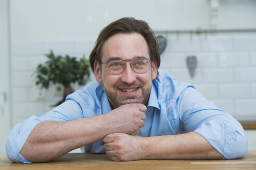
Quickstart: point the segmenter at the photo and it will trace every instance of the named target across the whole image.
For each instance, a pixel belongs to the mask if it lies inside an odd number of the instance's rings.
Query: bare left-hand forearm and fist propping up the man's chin
[[[43,121],[25,141],[20,154],[31,162],[46,162],[111,133],[136,134],[144,126],[146,106],[127,104],[108,114],[68,122]]]

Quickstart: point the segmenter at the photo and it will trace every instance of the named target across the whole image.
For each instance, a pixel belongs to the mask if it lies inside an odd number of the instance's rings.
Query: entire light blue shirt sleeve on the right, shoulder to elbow
[[[247,153],[248,140],[241,124],[194,88],[185,89],[176,104],[182,113],[183,131],[202,135],[224,159],[236,159]]]

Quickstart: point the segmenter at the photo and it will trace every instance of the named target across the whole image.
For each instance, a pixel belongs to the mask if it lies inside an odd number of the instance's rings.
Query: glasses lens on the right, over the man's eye
[[[150,60],[148,59],[133,59],[131,65],[134,72],[138,74],[146,73],[150,67]]]

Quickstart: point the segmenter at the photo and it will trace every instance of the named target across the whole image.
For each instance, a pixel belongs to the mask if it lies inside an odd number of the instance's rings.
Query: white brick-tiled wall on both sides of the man
[[[167,48],[161,55],[161,69],[177,80],[193,83],[208,100],[230,112],[237,119],[256,120],[256,34],[190,35],[163,34]],[[47,111],[61,96],[52,90],[47,100],[34,99],[32,73],[46,60],[50,49],[56,54],[89,55],[95,40],[12,42],[12,117],[13,124]],[[191,78],[186,57],[197,57],[197,68]],[[92,78],[93,80],[94,78]]]

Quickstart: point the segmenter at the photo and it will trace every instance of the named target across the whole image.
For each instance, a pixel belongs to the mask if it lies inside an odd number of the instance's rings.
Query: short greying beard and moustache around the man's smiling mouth
[[[113,108],[117,108],[121,105],[129,104],[129,103],[142,103],[145,106],[147,106],[147,102],[150,96],[152,83],[150,84],[149,88],[144,88],[144,84],[142,82],[134,82],[132,84],[127,84],[125,82],[118,83],[114,85],[113,89],[116,89],[114,91],[107,90],[104,86],[103,79],[101,77],[101,86],[103,87],[104,92],[106,93],[108,100],[110,103],[112,103],[114,106]],[[142,90],[142,94],[139,95],[131,95],[126,96],[125,98],[121,99],[120,96],[117,96],[117,91],[120,88],[124,87],[139,87],[139,89]]]

